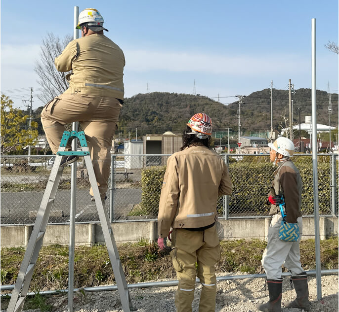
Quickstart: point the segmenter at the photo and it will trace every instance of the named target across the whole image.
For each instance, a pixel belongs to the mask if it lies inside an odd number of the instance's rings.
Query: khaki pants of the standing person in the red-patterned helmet
[[[179,280],[175,296],[177,312],[192,312],[196,263],[202,284],[199,312],[215,311],[215,263],[220,260],[220,245],[215,225],[205,231],[174,229],[172,232],[173,267]]]

